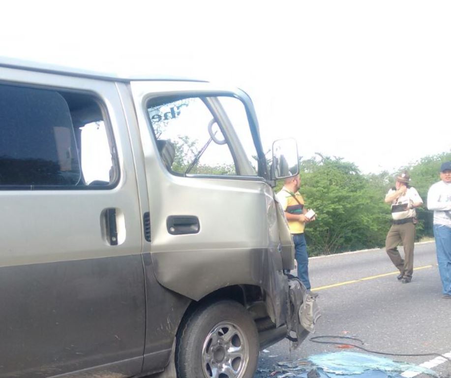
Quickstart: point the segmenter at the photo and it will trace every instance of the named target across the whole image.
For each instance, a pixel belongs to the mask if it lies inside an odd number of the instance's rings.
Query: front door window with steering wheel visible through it
[[[249,161],[238,161],[237,156],[242,159],[245,154],[234,127],[242,125],[232,123],[236,117],[229,117],[220,98],[226,97],[167,98],[148,102],[158,151],[171,173],[180,176],[256,175]],[[230,100],[244,109],[240,100],[233,97]],[[245,111],[243,113],[245,117]],[[249,128],[247,118],[244,121]],[[238,150],[241,154],[237,154]]]

